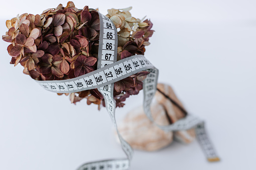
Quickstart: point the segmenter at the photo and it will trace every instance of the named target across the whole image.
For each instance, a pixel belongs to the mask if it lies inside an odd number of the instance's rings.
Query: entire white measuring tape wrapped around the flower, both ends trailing
[[[99,12],[98,12],[99,13]],[[150,103],[156,92],[158,70],[143,56],[135,55],[117,61],[118,37],[117,29],[112,21],[99,13],[100,17],[100,40],[98,53],[98,69],[82,76],[53,81],[37,81],[46,90],[56,93],[74,93],[83,90],[98,89],[104,96],[107,111],[116,128],[122,149],[127,158],[109,159],[82,164],[77,170],[102,170],[102,169],[129,169],[133,157],[132,147],[123,139],[118,132],[115,119],[116,103],[113,96],[114,83],[147,70],[150,73],[143,81],[144,111],[148,118],[159,128],[165,131],[187,130],[196,127],[197,138],[209,161],[219,160],[204,128],[204,122],[197,117],[188,115],[168,126],[157,125],[150,112]]]

